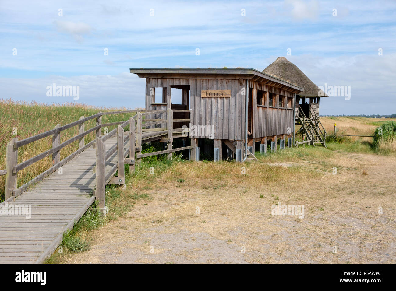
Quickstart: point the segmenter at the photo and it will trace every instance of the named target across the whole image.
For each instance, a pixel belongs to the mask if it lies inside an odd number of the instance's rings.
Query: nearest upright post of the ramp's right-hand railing
[[[95,200],[98,202],[97,207],[105,214],[106,205],[106,146],[100,138],[96,139],[96,188]]]

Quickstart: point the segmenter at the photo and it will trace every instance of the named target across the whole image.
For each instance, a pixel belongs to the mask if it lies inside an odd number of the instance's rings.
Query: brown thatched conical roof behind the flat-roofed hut
[[[263,73],[304,88],[300,96],[328,97],[296,65],[287,61],[286,57],[278,57]]]

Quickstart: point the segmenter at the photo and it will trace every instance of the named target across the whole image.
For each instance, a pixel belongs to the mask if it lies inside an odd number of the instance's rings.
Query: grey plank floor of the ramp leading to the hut
[[[126,132],[128,135],[128,132]],[[145,139],[154,133],[145,133]],[[129,135],[128,135],[129,136]],[[106,142],[106,151],[117,143],[116,135]],[[129,138],[124,150],[129,148]],[[62,242],[95,201],[96,149],[90,146],[9,205],[31,205],[31,218],[0,215],[0,263],[41,263]],[[117,152],[106,161],[106,173],[117,163]],[[115,173],[115,171],[114,171]],[[112,175],[114,175],[114,173]],[[15,206],[14,206],[15,207]]]

